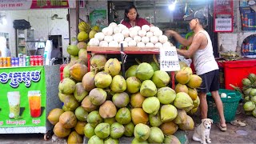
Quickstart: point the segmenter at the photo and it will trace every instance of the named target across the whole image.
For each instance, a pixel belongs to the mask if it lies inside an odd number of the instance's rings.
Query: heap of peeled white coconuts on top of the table
[[[102,29],[90,39],[89,46],[119,47],[156,47],[173,46],[168,42],[166,35],[157,26],[134,26],[128,29],[122,24],[110,23],[110,26]]]

